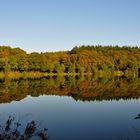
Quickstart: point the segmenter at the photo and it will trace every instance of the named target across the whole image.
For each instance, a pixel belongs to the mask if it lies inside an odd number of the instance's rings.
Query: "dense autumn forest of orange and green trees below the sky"
[[[79,46],[70,51],[32,52],[0,46],[0,72],[47,74],[138,75],[140,48],[129,46]]]

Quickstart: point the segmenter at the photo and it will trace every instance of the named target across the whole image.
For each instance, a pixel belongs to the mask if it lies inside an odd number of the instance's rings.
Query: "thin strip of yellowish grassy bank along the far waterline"
[[[98,71],[97,73],[45,73],[45,72],[18,72],[18,71],[10,71],[10,72],[0,72],[0,79],[38,79],[42,77],[52,77],[52,76],[98,76],[98,77],[104,77],[104,76],[123,76],[124,72],[122,71],[114,71],[113,73],[106,73],[104,71]]]

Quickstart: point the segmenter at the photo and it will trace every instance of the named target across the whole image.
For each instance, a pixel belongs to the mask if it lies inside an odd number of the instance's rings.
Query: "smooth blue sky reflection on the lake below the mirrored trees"
[[[140,100],[75,102],[67,96],[27,96],[1,104],[0,122],[6,122],[8,114],[20,116],[24,126],[35,120],[39,129],[49,129],[52,140],[139,140],[140,133],[134,131],[140,128],[140,121],[134,120],[139,106]]]

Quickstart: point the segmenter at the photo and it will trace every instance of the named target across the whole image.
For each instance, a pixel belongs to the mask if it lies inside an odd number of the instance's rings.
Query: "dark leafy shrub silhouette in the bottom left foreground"
[[[37,123],[31,121],[27,123],[23,132],[20,131],[22,124],[15,121],[15,117],[9,116],[4,125],[0,125],[0,140],[48,140],[47,128],[38,130]]]

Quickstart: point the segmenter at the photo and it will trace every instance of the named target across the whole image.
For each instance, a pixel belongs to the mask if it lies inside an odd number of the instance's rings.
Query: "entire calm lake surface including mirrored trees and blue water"
[[[140,79],[1,81],[0,122],[35,120],[50,140],[139,140]],[[137,118],[137,119],[136,119]]]

